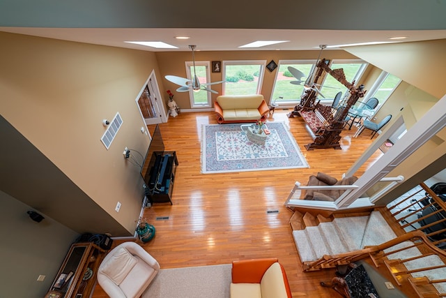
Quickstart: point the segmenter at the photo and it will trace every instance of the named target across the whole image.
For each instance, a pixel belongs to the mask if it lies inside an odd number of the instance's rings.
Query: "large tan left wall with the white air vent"
[[[0,110],[10,124],[128,231],[141,209],[139,167],[124,147],[145,154],[149,139],[135,103],[155,54],[0,33]],[[157,77],[160,77],[157,75]],[[102,119],[123,126],[107,150]],[[122,203],[116,213],[116,202]],[[75,204],[70,208],[75,208]]]

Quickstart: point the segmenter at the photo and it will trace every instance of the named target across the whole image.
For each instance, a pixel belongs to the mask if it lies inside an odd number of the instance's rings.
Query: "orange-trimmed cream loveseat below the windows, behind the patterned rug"
[[[270,112],[261,94],[217,96],[214,110],[219,124],[265,121]]]

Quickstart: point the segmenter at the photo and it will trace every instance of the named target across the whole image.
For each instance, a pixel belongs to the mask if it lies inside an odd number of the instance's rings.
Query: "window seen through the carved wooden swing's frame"
[[[346,80],[348,82],[357,82],[362,73],[367,66],[367,63],[362,60],[332,60],[330,68],[332,70],[342,68],[344,70],[344,75],[346,75]],[[348,89],[332,77],[327,74],[323,84],[321,86],[321,92],[325,98],[334,98],[334,96],[339,92],[342,92],[342,98],[348,97]]]

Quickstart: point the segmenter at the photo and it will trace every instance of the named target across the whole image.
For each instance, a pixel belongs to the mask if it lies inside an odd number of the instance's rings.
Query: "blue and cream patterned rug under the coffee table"
[[[201,172],[245,172],[309,167],[283,122],[268,122],[264,145],[247,139],[240,124],[203,125]]]

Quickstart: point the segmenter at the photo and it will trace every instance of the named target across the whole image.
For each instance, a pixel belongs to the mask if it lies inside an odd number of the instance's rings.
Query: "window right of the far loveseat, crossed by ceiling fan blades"
[[[300,96],[302,96],[304,91],[303,82],[302,85],[291,84],[291,82],[296,81],[296,78],[291,75],[288,67],[296,68],[308,76],[312,73],[315,62],[316,60],[279,60],[276,80],[274,87],[272,87],[271,100],[275,100],[276,103],[295,103],[300,101]],[[307,77],[304,77],[302,80],[306,79]],[[283,98],[279,98],[279,96],[283,96]]]

